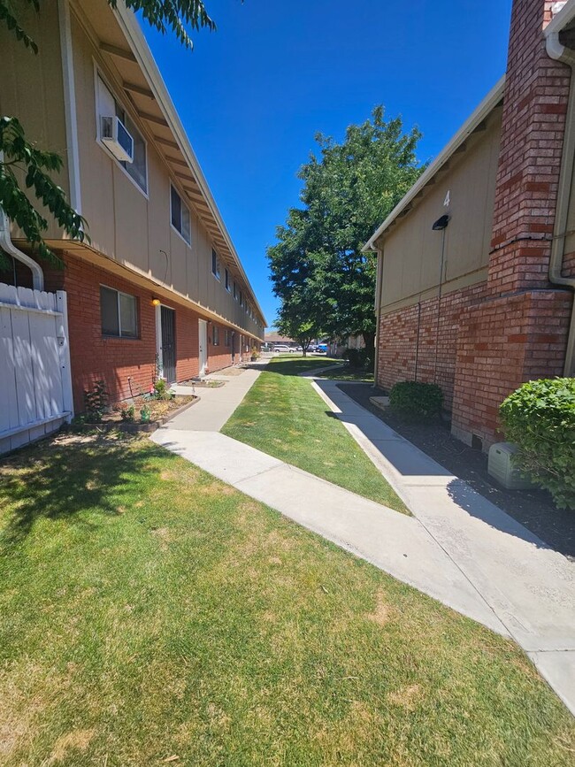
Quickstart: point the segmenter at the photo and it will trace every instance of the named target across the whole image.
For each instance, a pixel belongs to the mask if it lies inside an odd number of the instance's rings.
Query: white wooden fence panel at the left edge
[[[65,292],[0,282],[0,454],[72,416]]]

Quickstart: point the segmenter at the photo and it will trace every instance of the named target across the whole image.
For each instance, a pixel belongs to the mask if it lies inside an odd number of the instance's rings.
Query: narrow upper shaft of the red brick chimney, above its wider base
[[[548,287],[571,70],[548,57],[549,0],[515,0],[495,190],[490,289]]]

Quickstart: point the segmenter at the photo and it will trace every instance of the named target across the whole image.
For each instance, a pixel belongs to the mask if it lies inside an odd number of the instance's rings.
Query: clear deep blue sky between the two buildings
[[[270,324],[265,249],[318,131],[341,139],[373,106],[433,158],[505,71],[511,0],[206,0],[195,50],[145,28]]]

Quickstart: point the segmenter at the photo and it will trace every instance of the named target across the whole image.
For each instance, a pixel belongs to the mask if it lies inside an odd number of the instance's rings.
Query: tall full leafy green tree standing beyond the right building
[[[316,136],[318,156],[298,174],[303,207],[288,212],[268,249],[280,315],[305,288],[308,309],[319,309],[326,334],[361,334],[373,348],[376,259],[361,249],[423,172],[419,138],[415,127],[403,131],[401,118],[386,121],[382,106],[350,126],[341,143]]]

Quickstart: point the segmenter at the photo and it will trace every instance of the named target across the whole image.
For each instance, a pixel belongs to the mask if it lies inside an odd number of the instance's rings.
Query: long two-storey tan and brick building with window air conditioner
[[[58,184],[88,221],[72,242],[47,216],[65,268],[38,272],[67,294],[74,410],[97,380],[114,402],[259,349],[265,317],[134,13],[58,0],[21,14],[39,53],[0,27],[0,109],[65,159]],[[15,263],[0,282],[33,274]]]

